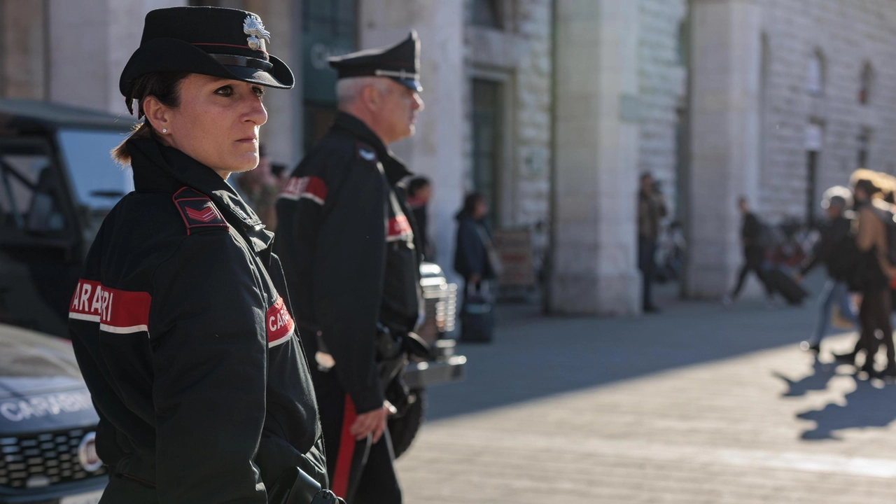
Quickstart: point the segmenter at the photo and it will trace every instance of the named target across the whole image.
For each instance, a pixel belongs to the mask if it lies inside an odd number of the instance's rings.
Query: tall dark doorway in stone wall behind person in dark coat
[[[473,190],[486,198],[491,224],[497,222],[501,168],[501,84],[473,79]]]

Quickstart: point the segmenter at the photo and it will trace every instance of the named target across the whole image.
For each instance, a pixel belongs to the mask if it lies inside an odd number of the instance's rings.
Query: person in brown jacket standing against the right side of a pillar
[[[642,309],[659,312],[653,304],[653,276],[656,272],[657,238],[660,220],[666,216],[666,200],[650,173],[641,176],[638,191],[638,268],[642,276]]]

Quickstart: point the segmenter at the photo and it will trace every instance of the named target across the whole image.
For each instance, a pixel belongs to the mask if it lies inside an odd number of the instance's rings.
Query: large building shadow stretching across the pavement
[[[427,391],[429,419],[797,343],[808,335],[815,307],[675,301],[645,317],[541,317],[537,307],[501,307],[498,316],[494,343],[459,347],[468,357],[467,379]]]

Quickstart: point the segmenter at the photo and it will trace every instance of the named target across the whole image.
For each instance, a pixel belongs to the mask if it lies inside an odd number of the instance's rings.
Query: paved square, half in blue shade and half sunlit
[[[892,503],[896,385],[814,363],[805,308],[628,319],[502,308],[398,462],[418,503]],[[850,348],[854,335],[826,340]]]

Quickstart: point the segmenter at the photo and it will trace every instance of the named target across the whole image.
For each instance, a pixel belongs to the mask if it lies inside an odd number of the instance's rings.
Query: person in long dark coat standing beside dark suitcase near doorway
[[[467,195],[456,216],[454,271],[463,277],[461,340],[490,341],[494,330],[490,281],[500,273],[501,262],[488,228],[486,198]]]

